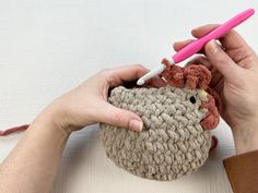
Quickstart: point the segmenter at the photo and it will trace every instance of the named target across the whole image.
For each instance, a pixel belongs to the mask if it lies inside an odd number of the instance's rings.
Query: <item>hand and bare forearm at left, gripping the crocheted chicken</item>
[[[107,97],[109,88],[134,81],[146,72],[141,65],[104,70],[54,100],[0,162],[0,192],[51,192],[63,148],[75,130],[104,122],[141,131],[140,117],[112,106]],[[156,76],[148,84],[163,86],[165,83]]]

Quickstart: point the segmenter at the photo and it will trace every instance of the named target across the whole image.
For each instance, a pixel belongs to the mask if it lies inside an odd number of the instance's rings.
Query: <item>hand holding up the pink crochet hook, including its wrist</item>
[[[218,25],[204,25],[191,32],[200,38]],[[178,41],[176,51],[192,41]],[[232,128],[236,154],[258,149],[258,58],[254,50],[234,31],[211,40],[191,63],[207,65],[212,72],[210,87],[222,98],[222,118]]]

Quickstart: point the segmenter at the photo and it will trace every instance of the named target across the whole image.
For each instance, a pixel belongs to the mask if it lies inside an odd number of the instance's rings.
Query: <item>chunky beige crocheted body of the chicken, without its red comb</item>
[[[210,133],[200,125],[207,110],[200,105],[207,99],[202,89],[114,88],[109,102],[137,112],[144,128],[138,133],[102,123],[106,155],[142,178],[164,181],[191,173],[203,165],[211,147]]]

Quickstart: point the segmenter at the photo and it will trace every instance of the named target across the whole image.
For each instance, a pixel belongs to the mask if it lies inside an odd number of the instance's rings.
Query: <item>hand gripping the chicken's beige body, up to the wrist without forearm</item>
[[[56,126],[68,133],[97,122],[141,131],[141,118],[112,106],[107,102],[107,97],[109,88],[134,81],[146,72],[148,70],[139,64],[103,70],[56,99],[39,117],[51,117]],[[165,82],[155,76],[146,84],[160,87],[164,86]]]

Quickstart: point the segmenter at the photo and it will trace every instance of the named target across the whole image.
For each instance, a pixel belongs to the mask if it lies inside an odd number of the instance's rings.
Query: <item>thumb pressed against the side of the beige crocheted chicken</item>
[[[119,109],[110,104],[106,104],[101,110],[102,122],[116,126],[129,129],[132,131],[142,131],[143,122],[141,118],[125,109]]]

